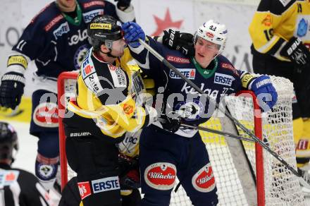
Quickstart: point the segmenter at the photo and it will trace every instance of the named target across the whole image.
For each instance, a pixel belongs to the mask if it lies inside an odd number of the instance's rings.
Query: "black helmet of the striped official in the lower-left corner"
[[[18,136],[11,124],[0,121],[0,159],[12,159],[13,150],[18,150]]]

